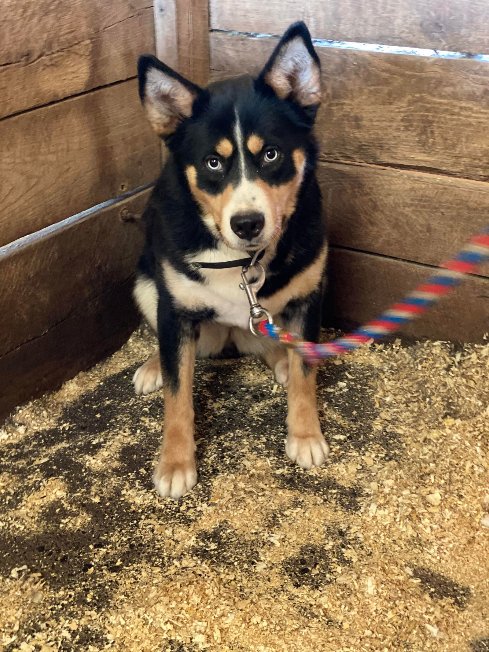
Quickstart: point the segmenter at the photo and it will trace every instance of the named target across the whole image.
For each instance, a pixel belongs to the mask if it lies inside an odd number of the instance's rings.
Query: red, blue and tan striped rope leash
[[[318,364],[325,357],[348,353],[353,349],[395,333],[409,321],[421,317],[434,304],[459,286],[467,274],[473,274],[482,263],[489,260],[489,225],[469,242],[453,258],[440,265],[439,271],[426,282],[409,292],[402,301],[394,303],[377,319],[369,321],[361,328],[326,344],[304,342],[298,335],[288,333],[280,327],[261,321],[256,329],[262,335],[279,340],[294,348],[308,364]]]

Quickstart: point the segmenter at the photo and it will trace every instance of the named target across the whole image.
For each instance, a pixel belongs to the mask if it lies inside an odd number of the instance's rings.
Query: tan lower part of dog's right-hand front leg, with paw
[[[329,454],[318,419],[316,406],[316,369],[304,373],[301,358],[289,355],[288,437],[286,453],[303,469],[321,466]]]

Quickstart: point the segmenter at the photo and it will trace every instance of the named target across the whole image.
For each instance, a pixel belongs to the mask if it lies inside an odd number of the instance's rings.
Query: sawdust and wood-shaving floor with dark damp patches
[[[3,652],[489,650],[489,346],[329,361],[331,458],[284,455],[286,394],[258,361],[200,361],[200,482],[161,499],[154,350],[108,361],[0,430]]]

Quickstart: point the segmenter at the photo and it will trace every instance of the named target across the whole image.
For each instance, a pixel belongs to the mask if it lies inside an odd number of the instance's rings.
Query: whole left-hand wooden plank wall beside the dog
[[[137,93],[142,52],[155,52],[152,3],[2,7],[0,416],[111,353],[137,323],[141,232],[127,218],[160,168]]]

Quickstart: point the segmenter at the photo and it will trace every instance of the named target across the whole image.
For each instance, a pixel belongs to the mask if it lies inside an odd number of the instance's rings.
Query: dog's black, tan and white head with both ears
[[[156,57],[138,63],[141,102],[218,239],[255,250],[280,238],[312,150],[321,70],[304,23],[289,27],[258,78],[201,89]]]

